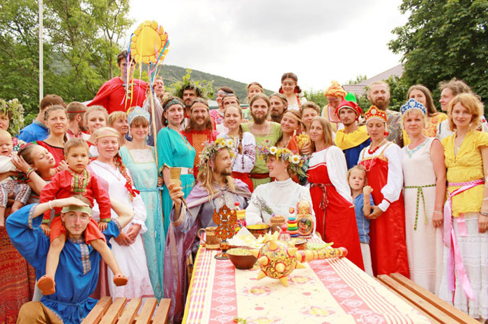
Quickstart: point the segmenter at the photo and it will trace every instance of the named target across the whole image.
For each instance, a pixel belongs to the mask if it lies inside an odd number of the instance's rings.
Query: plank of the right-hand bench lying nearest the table
[[[377,278],[378,280],[383,282],[383,284],[386,284],[391,289],[397,291],[397,293],[402,295],[404,298],[417,305],[418,308],[429,314],[429,316],[435,318],[436,321],[439,321],[441,323],[452,323],[452,317],[450,317],[448,314],[445,314],[443,311],[429,303],[427,300],[413,293],[413,291],[406,288],[406,286],[403,286],[399,282],[393,280],[388,275],[379,275]]]

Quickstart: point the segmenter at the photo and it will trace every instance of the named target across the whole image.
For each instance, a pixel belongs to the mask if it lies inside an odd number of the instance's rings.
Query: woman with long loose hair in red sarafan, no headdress
[[[344,153],[333,145],[332,127],[326,118],[314,118],[309,135],[315,149],[310,156],[307,176],[317,232],[324,241],[333,242],[334,248],[346,248],[346,258],[364,271]]]

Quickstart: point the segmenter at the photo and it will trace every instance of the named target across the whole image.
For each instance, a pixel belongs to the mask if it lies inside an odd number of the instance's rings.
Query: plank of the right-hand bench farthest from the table
[[[468,314],[464,313],[464,311],[457,309],[445,300],[441,300],[441,298],[437,297],[422,286],[415,284],[415,282],[409,280],[409,278],[405,277],[404,275],[400,273],[392,273],[390,277],[392,277],[395,281],[399,282],[403,286],[406,286],[406,288],[413,291],[413,293],[415,293],[416,295],[419,295],[421,298],[428,300],[432,305],[441,309],[441,311],[449,314],[449,316],[454,318],[456,321],[460,323],[480,323]]]

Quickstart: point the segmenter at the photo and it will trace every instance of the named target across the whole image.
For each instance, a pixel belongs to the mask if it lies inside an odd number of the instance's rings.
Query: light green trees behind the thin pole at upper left
[[[92,99],[112,78],[132,24],[128,0],[44,1],[44,94]],[[38,1],[0,0],[0,97],[38,112]],[[118,70],[118,69],[117,69]],[[26,118],[26,122],[28,118]]]

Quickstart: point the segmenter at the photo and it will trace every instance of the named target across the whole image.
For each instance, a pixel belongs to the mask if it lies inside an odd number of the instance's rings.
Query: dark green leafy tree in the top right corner
[[[399,9],[411,15],[388,47],[403,54],[402,83],[435,90],[455,76],[487,101],[488,1],[404,0]]]

